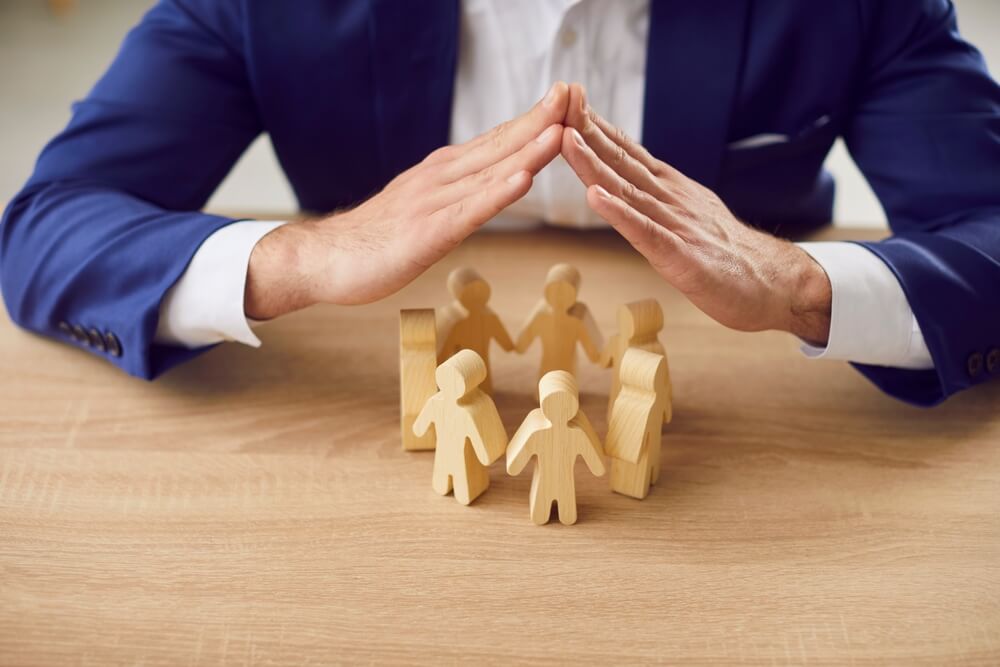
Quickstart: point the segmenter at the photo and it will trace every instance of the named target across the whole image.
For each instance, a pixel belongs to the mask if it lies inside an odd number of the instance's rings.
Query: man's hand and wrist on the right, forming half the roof
[[[565,125],[562,154],[588,186],[588,205],[695,306],[733,329],[826,344],[830,280],[805,251],[741,223],[715,193],[597,115],[579,84]]]

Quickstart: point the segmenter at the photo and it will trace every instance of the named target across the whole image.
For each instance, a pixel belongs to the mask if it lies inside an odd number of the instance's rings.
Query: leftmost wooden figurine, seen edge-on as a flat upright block
[[[413,432],[413,422],[434,395],[437,370],[437,332],[431,308],[399,311],[399,412],[403,449],[434,449],[434,434]]]

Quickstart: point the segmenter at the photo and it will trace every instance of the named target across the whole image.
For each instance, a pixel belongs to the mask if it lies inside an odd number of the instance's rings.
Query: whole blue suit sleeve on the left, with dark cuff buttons
[[[198,210],[260,133],[238,14],[163,0],[74,105],[0,225],[14,322],[147,379],[206,349],[154,334],[164,295],[233,222]]]

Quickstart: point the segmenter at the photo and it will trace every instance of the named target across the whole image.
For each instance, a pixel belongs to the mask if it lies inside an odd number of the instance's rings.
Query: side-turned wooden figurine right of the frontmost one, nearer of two
[[[660,477],[661,432],[670,421],[667,360],[629,348],[619,364],[621,391],[611,409],[605,452],[611,457],[611,490],[645,498]]]

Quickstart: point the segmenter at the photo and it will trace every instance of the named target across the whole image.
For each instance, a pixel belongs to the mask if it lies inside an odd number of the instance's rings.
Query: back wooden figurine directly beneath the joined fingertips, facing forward
[[[549,371],[576,375],[576,346],[598,362],[603,337],[587,306],[576,300],[580,272],[569,264],[556,264],[545,279],[545,297],[538,302],[517,336],[515,347],[525,352],[531,343],[542,341],[542,363],[538,376]]]

